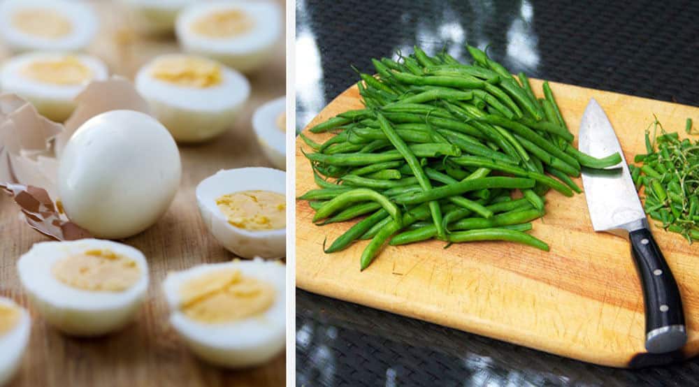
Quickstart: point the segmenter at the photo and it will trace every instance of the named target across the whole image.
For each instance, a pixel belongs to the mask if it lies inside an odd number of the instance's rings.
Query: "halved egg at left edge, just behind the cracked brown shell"
[[[3,64],[0,87],[3,93],[26,99],[45,117],[62,122],[75,110],[75,97],[89,82],[107,77],[107,66],[96,57],[32,52]]]

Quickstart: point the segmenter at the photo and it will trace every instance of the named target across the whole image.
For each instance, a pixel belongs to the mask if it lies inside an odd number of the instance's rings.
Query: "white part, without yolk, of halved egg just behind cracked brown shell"
[[[0,87],[3,93],[17,94],[36,107],[39,113],[57,122],[65,121],[75,110],[75,97],[92,80],[106,80],[109,72],[106,64],[90,55],[72,55],[92,72],[92,78],[80,85],[57,85],[41,82],[24,75],[25,66],[36,61],[61,59],[66,54],[31,52],[8,59],[0,70]]]

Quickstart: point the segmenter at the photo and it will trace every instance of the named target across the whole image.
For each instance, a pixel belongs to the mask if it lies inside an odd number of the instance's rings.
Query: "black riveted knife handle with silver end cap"
[[[632,231],[629,239],[643,289],[646,349],[651,353],[680,349],[687,341],[687,333],[675,277],[650,230]]]

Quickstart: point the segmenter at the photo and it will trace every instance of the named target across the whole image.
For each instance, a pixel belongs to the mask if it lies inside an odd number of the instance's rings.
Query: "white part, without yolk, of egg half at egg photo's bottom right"
[[[271,284],[275,300],[261,316],[229,323],[201,323],[180,312],[180,287],[209,272],[236,268],[246,277]],[[170,323],[197,356],[224,367],[250,367],[266,363],[284,348],[286,337],[286,266],[280,262],[233,261],[199,265],[172,272],[163,282],[171,308]]]

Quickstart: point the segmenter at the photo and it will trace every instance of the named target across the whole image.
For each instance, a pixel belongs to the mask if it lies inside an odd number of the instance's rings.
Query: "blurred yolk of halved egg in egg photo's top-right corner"
[[[252,20],[242,10],[212,12],[192,23],[192,32],[208,38],[233,38],[245,34],[254,27]]]

